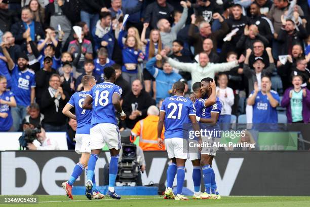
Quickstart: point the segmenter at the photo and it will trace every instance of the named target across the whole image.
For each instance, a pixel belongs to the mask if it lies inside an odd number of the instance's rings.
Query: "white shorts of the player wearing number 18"
[[[122,148],[119,127],[115,124],[101,123],[90,129],[90,149],[97,150],[104,147],[106,143],[109,149]]]

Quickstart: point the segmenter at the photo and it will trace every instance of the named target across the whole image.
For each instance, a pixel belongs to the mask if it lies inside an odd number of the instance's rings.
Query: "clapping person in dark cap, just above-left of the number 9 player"
[[[69,61],[65,61],[62,64],[63,75],[60,77],[61,87],[71,96],[75,91],[75,78],[72,76],[72,64]]]

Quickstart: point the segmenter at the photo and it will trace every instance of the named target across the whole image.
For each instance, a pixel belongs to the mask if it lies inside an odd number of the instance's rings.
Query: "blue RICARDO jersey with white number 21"
[[[188,116],[195,115],[193,103],[183,96],[165,98],[161,108],[165,112],[165,139],[183,138],[183,124],[188,124]]]

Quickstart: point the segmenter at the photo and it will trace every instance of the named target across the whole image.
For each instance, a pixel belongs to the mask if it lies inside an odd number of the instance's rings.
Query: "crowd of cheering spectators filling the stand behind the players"
[[[221,123],[245,113],[277,123],[279,106],[288,122],[308,123],[309,34],[299,0],[0,0],[0,131],[40,123],[72,140],[62,109],[84,75],[103,82],[105,66],[123,89],[121,130],[156,116],[149,107],[174,82],[188,97],[206,77],[217,81]]]

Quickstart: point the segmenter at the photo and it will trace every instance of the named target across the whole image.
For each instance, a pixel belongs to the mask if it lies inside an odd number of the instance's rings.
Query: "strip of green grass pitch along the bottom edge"
[[[4,195],[2,198],[6,197]],[[22,196],[18,196],[22,197]],[[310,206],[310,196],[222,196],[220,200],[195,200],[191,197],[189,200],[166,200],[162,196],[122,196],[121,200],[114,200],[104,198],[101,200],[88,200],[83,195],[73,196],[74,200],[69,200],[66,196],[53,196],[53,195],[38,195],[38,203],[22,204],[24,206],[73,206],[73,207],[93,207],[93,206],[107,206],[107,207],[149,207],[149,206]],[[3,199],[1,199],[3,200]],[[3,203],[2,203],[3,204]],[[2,205],[0,204],[0,205]],[[22,206],[21,204],[7,204],[8,207]]]

